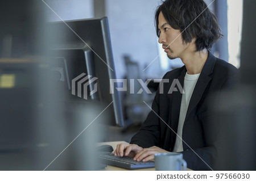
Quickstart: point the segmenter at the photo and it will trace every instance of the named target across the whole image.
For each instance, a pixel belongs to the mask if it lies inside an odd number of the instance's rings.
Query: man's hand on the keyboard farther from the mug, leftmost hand
[[[117,149],[114,150],[114,155],[118,157],[123,157],[123,155],[134,157],[142,149],[141,146],[135,144],[118,144]]]

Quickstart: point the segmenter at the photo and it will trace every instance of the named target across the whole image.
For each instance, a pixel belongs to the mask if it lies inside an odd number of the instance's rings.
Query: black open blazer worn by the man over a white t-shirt
[[[178,79],[183,87],[186,71],[183,66],[164,75],[163,79],[169,79],[169,83],[160,83],[160,86],[164,87],[163,94],[160,94],[158,88],[152,103],[154,112],[148,114],[139,132],[131,138],[131,144],[137,144],[142,148],[159,146],[168,151],[174,149],[182,94],[177,86],[178,91],[172,94],[168,94],[168,91],[174,79]],[[183,125],[184,151],[181,153],[189,169],[212,170],[213,159],[216,156],[214,142],[217,133],[212,131],[214,120],[210,119],[210,98],[213,94],[214,100],[220,98],[223,90],[234,85],[237,73],[238,70],[233,65],[214,57],[209,52],[191,96]]]

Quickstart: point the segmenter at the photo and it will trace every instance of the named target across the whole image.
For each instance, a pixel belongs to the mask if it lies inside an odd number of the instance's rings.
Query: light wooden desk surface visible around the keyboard
[[[98,143],[98,146],[100,145],[111,145],[113,147],[113,149],[115,150],[115,148],[117,148],[118,144],[129,144],[125,141],[111,141],[111,142],[100,142]],[[122,169],[119,167],[114,167],[114,166],[110,166],[108,165],[107,167],[105,167],[105,169],[103,169],[104,171],[128,171],[127,169]],[[155,171],[155,168],[149,168],[149,169],[138,169],[138,170],[133,170],[133,171]],[[190,169],[187,169],[187,171],[191,171]]]

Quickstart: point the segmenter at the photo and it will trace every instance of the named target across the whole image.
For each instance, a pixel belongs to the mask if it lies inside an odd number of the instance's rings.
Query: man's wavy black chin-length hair
[[[184,43],[190,43],[193,37],[196,38],[197,51],[204,48],[209,50],[223,36],[216,16],[210,12],[203,0],[164,1],[155,12],[156,34],[158,36],[160,12],[163,13],[164,18],[172,28],[182,32]]]

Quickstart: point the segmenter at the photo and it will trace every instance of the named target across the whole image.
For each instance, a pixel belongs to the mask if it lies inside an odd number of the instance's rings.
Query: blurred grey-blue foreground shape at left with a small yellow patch
[[[103,109],[61,101],[46,8],[42,1],[0,2],[0,170],[96,170],[100,131],[88,125]]]

